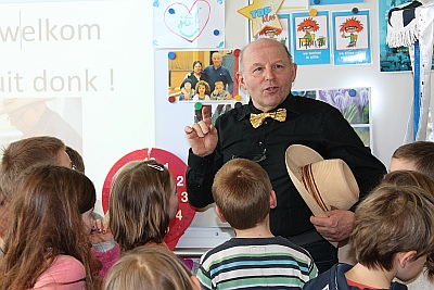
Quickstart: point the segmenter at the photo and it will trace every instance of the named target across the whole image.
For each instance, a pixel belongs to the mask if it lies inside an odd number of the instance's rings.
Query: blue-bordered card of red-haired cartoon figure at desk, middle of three
[[[329,13],[293,13],[293,56],[298,65],[330,63]]]

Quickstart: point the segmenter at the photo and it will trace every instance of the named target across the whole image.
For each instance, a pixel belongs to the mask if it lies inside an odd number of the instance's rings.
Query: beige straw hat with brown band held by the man
[[[358,201],[356,178],[343,160],[324,160],[308,147],[293,144],[286,149],[285,162],[291,180],[314,215],[348,210]]]

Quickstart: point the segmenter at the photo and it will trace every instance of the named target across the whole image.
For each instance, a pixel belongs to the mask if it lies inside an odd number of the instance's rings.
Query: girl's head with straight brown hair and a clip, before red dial
[[[155,160],[129,162],[113,177],[108,225],[124,251],[162,243],[177,209],[175,180]]]

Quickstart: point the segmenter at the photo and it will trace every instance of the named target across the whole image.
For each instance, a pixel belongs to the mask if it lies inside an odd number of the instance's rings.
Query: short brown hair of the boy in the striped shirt
[[[233,159],[216,174],[213,197],[225,219],[235,229],[248,229],[270,211],[271,182],[256,162]]]

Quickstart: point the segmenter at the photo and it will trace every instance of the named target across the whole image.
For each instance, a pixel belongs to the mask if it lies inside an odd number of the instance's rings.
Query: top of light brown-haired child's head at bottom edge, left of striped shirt
[[[110,269],[104,290],[200,290],[197,279],[168,249],[142,245]]]

